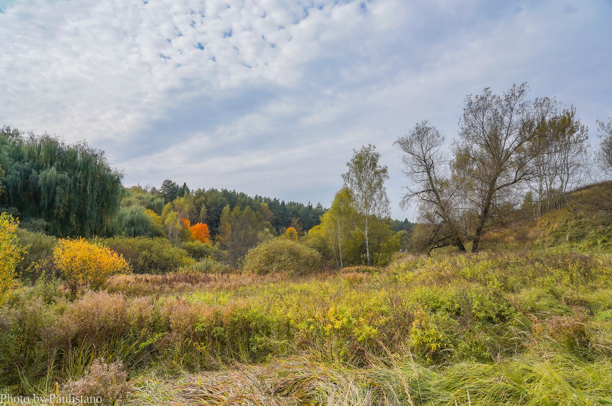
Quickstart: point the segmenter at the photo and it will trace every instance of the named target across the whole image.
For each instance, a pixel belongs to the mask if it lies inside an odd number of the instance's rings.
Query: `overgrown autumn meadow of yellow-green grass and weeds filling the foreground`
[[[397,254],[236,273],[207,259],[0,307],[0,392],[105,404],[612,404],[612,258]]]

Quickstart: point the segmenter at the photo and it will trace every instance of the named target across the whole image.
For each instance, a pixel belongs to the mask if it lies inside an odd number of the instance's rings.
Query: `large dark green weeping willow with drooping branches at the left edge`
[[[109,235],[122,197],[123,174],[87,143],[0,130],[0,206],[49,223],[56,236]]]

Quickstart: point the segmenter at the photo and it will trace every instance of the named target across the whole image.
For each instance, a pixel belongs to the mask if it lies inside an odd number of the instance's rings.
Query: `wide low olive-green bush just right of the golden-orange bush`
[[[135,273],[164,273],[194,262],[187,251],[173,246],[165,238],[113,237],[102,242],[122,254]]]

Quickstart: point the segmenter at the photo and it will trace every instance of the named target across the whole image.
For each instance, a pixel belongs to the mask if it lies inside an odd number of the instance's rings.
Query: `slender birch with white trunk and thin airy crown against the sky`
[[[353,195],[352,205],[357,212],[357,230],[364,233],[367,265],[370,265],[370,224],[376,217],[388,216],[389,198],[384,182],[389,179],[387,167],[378,164],[376,146],[368,144],[346,163],[348,172],[342,175],[345,186]]]

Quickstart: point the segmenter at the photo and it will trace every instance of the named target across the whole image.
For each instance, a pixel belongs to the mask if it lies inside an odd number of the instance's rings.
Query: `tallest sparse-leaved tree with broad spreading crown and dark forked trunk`
[[[464,187],[463,204],[471,219],[464,232],[472,252],[479,251],[488,228],[501,224],[513,208],[513,189],[533,176],[540,129],[556,103],[548,97],[531,101],[527,94],[523,83],[501,96],[485,88],[465,99],[453,170]]]

